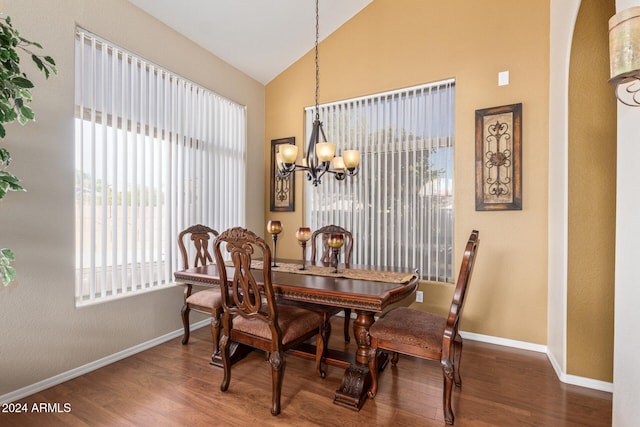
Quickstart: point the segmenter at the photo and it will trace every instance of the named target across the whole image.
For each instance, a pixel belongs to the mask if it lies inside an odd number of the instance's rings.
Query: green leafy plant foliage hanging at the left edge
[[[42,46],[21,37],[10,17],[0,18],[0,143],[6,136],[5,124],[17,121],[24,125],[35,119],[29,107],[33,83],[20,69],[20,54],[29,55],[46,78],[51,73],[57,74],[53,58],[38,55],[32,51],[33,48],[42,49]],[[18,177],[7,170],[10,162],[11,154],[0,145],[0,200],[9,191],[25,191]],[[15,278],[16,272],[11,266],[13,260],[13,251],[2,248],[0,244],[0,281],[3,286]]]

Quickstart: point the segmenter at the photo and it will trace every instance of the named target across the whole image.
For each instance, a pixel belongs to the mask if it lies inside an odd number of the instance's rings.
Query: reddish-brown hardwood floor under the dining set
[[[331,345],[346,346],[342,318]],[[353,340],[352,340],[353,341]],[[360,412],[333,404],[343,370],[287,358],[282,413],[273,417],[270,369],[259,353],[234,366],[229,391],[209,365],[211,336],[194,331],[15,402],[28,413],[0,413],[3,426],[443,426],[442,371],[408,357],[380,375],[375,400]],[[351,343],[349,348],[353,349]],[[611,394],[561,383],[544,354],[465,341],[463,386],[454,391],[456,426],[610,426]],[[56,412],[33,412],[50,404]],[[65,407],[65,403],[69,406]],[[56,408],[56,404],[58,407]],[[46,409],[44,406],[42,409]],[[65,412],[65,409],[69,411]]]

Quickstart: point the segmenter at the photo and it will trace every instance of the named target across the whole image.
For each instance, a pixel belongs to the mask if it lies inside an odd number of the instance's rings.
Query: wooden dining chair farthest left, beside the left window
[[[218,232],[206,225],[192,225],[178,234],[178,248],[182,254],[182,268],[199,267],[213,262],[209,248],[213,240],[218,236]],[[187,249],[187,239],[191,240],[193,246]],[[192,262],[189,263],[189,254],[192,254]],[[218,338],[220,337],[220,316],[222,315],[222,298],[217,289],[204,289],[193,292],[193,286],[184,285],[184,304],[181,315],[184,333],[182,344],[189,342],[189,313],[191,310],[199,311],[211,315],[211,336],[213,338],[213,353],[218,350]]]

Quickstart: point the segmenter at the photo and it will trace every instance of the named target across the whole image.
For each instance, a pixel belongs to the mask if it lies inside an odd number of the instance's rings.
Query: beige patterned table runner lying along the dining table
[[[233,267],[232,261],[227,261],[225,265]],[[252,260],[251,268],[262,270],[262,260]],[[342,277],[345,279],[370,280],[374,282],[386,283],[406,283],[413,279],[415,273],[401,273],[397,271],[380,271],[380,270],[360,270],[356,268],[338,267],[338,272],[334,273],[335,267],[324,267],[319,265],[307,265],[306,270],[300,270],[302,264],[278,262],[277,267],[271,267],[271,271],[279,271],[284,273],[308,274],[313,276],[326,277]]]

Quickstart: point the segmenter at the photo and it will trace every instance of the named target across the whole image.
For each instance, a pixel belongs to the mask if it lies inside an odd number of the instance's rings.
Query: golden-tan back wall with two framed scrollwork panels
[[[303,109],[314,102],[312,53],[266,87],[265,156],[271,139],[295,136],[299,146],[306,144]],[[498,87],[503,70],[510,71],[511,84]],[[457,262],[472,228],[480,230],[481,239],[462,329],[545,344],[548,1],[375,0],[320,45],[321,103],[450,77],[456,79]],[[474,112],[518,102],[523,104],[523,210],[476,212]],[[278,241],[283,257],[299,256],[294,230],[303,222],[302,179],[297,177],[296,211],[273,213],[265,172],[265,219],[283,221]],[[422,307],[442,310],[451,301],[451,285],[421,288],[431,302]]]

